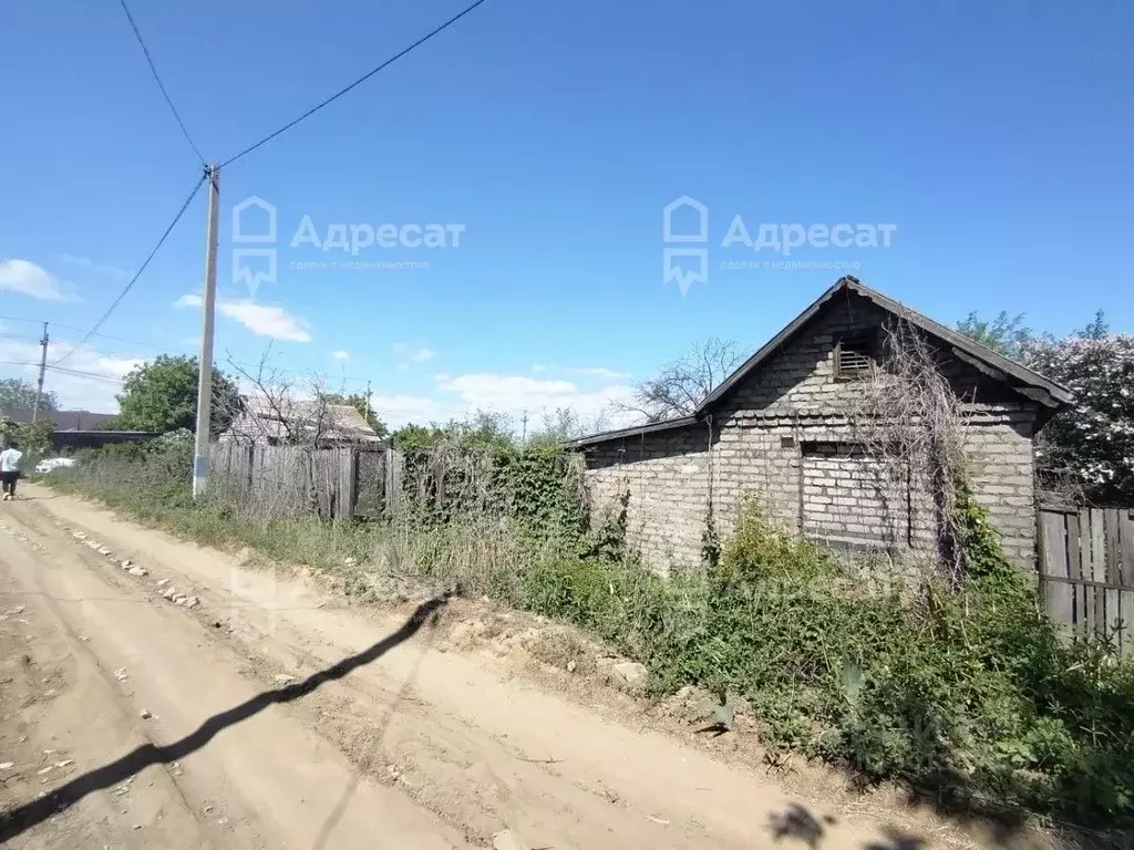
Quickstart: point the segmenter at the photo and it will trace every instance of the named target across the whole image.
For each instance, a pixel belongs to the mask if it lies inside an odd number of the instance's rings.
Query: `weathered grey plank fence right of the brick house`
[[[1134,511],[1044,507],[1039,512],[1040,595],[1048,615],[1080,637],[1110,636],[1134,654]]]

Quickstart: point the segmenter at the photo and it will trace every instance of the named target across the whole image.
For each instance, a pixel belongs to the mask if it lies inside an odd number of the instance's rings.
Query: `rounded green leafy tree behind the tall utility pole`
[[[197,417],[196,357],[160,355],[126,376],[118,396],[119,431],[193,430]],[[242,407],[236,384],[219,369],[212,371],[211,431],[219,434]]]

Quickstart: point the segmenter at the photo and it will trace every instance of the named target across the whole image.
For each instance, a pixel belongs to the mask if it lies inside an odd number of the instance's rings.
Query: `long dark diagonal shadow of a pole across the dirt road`
[[[43,823],[56,813],[74,806],[92,791],[100,791],[117,785],[151,765],[168,764],[181,759],[188,754],[201,749],[221,730],[259,714],[268,706],[277,703],[290,703],[293,699],[298,699],[312,692],[323,682],[341,679],[353,670],[369,664],[398,644],[416,635],[422,626],[449,602],[450,597],[451,594],[445,594],[422,603],[401,628],[393,634],[382,638],[357,655],[352,655],[338,664],[313,673],[302,682],[295,682],[257,694],[226,712],[214,714],[179,741],[162,747],[153,743],[137,747],[116,762],[76,776],[66,785],[57,788],[46,796],[0,815],[0,845],[3,845],[36,824]]]

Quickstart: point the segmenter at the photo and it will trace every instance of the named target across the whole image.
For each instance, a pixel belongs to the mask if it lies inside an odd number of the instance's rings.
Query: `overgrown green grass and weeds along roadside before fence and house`
[[[540,511],[262,525],[238,507],[194,505],[187,468],[184,449],[99,452],[52,483],[202,543],[328,569],[362,597],[381,595],[389,577],[460,581],[608,641],[646,664],[659,694],[696,683],[722,704],[744,702],[769,748],[868,781],[1134,826],[1134,664],[1058,638],[964,493],[968,570],[955,593],[866,588],[759,510],[716,562],[663,580],[623,551],[617,516],[583,532],[560,510],[576,533],[549,529]]]

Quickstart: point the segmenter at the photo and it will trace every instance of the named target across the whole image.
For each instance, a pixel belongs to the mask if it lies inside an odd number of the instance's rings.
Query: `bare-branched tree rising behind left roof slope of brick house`
[[[634,388],[626,410],[648,422],[688,416],[739,364],[743,354],[736,342],[711,337],[676,360],[661,367],[657,376]]]

